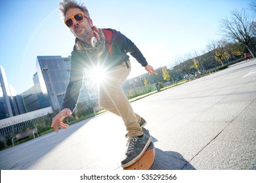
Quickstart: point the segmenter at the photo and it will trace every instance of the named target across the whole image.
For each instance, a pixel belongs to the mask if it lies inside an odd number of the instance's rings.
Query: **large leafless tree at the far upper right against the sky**
[[[221,20],[221,31],[231,39],[245,44],[253,58],[256,57],[251,42],[253,39],[253,16],[249,16],[244,9],[231,12],[231,20]]]

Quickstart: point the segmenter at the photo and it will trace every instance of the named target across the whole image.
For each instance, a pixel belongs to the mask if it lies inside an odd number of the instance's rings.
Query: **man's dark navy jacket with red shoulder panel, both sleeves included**
[[[89,58],[86,52],[78,52],[74,46],[71,56],[70,81],[66,90],[66,95],[62,103],[63,108],[74,110],[79,98],[80,90],[83,83],[83,71],[85,68],[91,69],[94,65],[102,65],[105,69],[112,69],[124,61],[129,60],[129,52],[143,67],[148,65],[146,59],[125,35],[114,29],[102,29],[106,39],[105,52],[100,58]]]

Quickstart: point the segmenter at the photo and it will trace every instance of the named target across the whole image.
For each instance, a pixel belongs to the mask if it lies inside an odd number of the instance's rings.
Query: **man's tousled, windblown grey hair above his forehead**
[[[83,5],[83,3],[77,3],[75,0],[62,0],[60,3],[58,3],[58,9],[62,13],[63,18],[65,19],[66,12],[70,8],[79,8],[81,11],[90,18],[89,10],[87,7]]]

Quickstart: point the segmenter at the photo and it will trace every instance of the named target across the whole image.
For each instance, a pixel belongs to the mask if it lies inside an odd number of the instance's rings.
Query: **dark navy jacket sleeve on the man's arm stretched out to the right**
[[[117,37],[118,37],[117,38],[118,44],[120,45],[121,49],[124,52],[129,52],[131,54],[131,56],[133,56],[133,58],[137,59],[137,61],[143,67],[148,65],[146,58],[144,58],[144,56],[140,52],[139,48],[137,48],[137,46],[130,39],[125,37],[125,35],[123,35],[119,31],[117,32]]]

